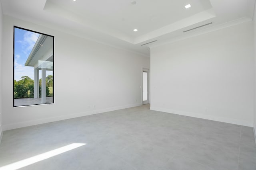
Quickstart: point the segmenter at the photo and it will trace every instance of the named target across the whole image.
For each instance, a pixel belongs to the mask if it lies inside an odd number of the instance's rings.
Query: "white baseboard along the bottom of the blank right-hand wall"
[[[193,112],[186,112],[186,111],[179,111],[179,110],[172,110],[172,109],[163,109],[163,108],[159,108],[159,107],[150,107],[150,110],[162,111],[162,112],[173,113],[173,114],[177,114],[177,115],[197,117],[197,118],[201,118],[201,119],[208,119],[208,120],[213,120],[213,121],[220,121],[220,122],[225,122],[225,123],[232,123],[232,124],[236,124],[236,125],[253,127],[252,122],[239,120],[239,119],[218,117],[218,116],[213,116],[213,115],[204,115],[204,114],[200,114],[200,113],[193,113]]]

